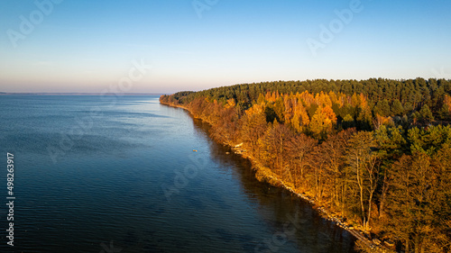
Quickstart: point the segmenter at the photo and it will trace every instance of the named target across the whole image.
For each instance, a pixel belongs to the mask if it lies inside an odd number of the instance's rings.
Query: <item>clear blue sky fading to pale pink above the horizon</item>
[[[101,92],[129,72],[137,93],[451,74],[449,0],[361,0],[345,22],[336,10],[359,1],[59,1],[0,1],[0,91]]]

